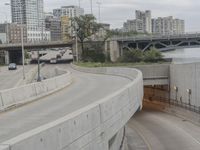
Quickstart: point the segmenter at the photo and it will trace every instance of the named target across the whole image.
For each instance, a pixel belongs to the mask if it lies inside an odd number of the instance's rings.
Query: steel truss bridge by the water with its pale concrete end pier
[[[138,35],[133,37],[113,37],[110,39],[111,60],[116,61],[123,55],[123,49],[141,49],[146,51],[155,47],[160,51],[179,48],[200,47],[200,33],[181,35]]]

